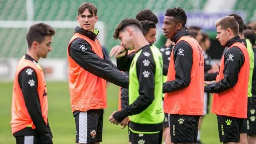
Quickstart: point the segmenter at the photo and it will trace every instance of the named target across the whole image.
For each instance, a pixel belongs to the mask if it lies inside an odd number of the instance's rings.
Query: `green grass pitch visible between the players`
[[[11,99],[12,82],[1,82],[0,100],[0,143],[13,144],[15,138],[11,134]],[[73,144],[75,140],[75,122],[70,107],[70,97],[67,82],[48,82],[49,124],[53,133],[54,144]],[[104,111],[103,142],[102,144],[128,143],[127,128],[121,130],[120,126],[108,121],[109,115],[118,107],[118,86],[109,84],[107,88],[108,108]],[[218,144],[217,119],[213,114],[205,116],[202,130],[202,142]]]

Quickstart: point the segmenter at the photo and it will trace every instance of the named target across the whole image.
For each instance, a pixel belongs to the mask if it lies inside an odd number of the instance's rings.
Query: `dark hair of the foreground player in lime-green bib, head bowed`
[[[115,32],[114,32],[114,38],[118,39],[119,33],[125,29],[127,26],[136,26],[140,31],[142,31],[142,26],[141,23],[137,19],[133,18],[125,18],[122,20],[122,22],[116,27]]]

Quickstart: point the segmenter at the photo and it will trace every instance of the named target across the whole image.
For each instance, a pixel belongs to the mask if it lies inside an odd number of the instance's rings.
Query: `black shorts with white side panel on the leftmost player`
[[[40,136],[15,136],[16,144],[42,144]]]

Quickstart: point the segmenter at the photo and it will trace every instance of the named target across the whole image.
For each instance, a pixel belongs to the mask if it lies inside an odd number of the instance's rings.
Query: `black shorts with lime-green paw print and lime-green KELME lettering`
[[[243,118],[217,115],[220,142],[239,142]]]

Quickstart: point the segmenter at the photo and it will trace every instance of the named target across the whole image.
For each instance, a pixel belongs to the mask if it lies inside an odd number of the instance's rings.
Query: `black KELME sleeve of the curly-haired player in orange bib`
[[[175,79],[167,81],[163,85],[163,93],[180,90],[189,86],[191,81],[191,69],[193,63],[192,48],[185,42],[180,41],[173,49],[173,58],[175,64]]]

